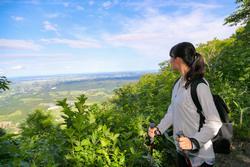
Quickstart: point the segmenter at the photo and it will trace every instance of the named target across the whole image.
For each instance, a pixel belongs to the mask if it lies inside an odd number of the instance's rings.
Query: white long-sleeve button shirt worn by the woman
[[[199,129],[200,115],[191,97],[190,86],[185,88],[186,80],[181,77],[172,91],[171,104],[164,118],[158,124],[161,133],[164,133],[173,125],[173,137],[178,131],[184,135],[196,139],[200,144],[197,153],[188,153],[193,166],[199,166],[202,162],[212,164],[215,158],[211,139],[218,133],[222,122],[215,107],[213,97],[208,85],[200,83],[197,86],[197,96],[205,116],[205,123]]]

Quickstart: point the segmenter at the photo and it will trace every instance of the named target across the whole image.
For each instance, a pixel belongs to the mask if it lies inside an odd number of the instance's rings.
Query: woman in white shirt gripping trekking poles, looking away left
[[[167,113],[156,128],[149,128],[148,134],[150,137],[163,134],[173,125],[178,167],[213,166],[215,153],[211,139],[218,133],[222,122],[208,83],[200,83],[196,91],[205,123],[199,130],[200,115],[197,113],[190,91],[191,82],[204,77],[204,59],[189,42],[173,46],[170,57],[172,69],[177,70],[181,77],[173,87]]]

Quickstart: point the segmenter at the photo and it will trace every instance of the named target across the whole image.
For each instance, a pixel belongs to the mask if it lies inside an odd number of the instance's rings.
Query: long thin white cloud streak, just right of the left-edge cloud
[[[71,48],[100,48],[101,45],[91,39],[61,39],[61,38],[52,38],[52,39],[41,39],[42,42],[47,44],[63,44]]]

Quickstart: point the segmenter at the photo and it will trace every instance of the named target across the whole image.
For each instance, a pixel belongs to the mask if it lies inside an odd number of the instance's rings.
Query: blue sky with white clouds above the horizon
[[[0,75],[157,70],[171,46],[229,37],[232,0],[0,0]]]

